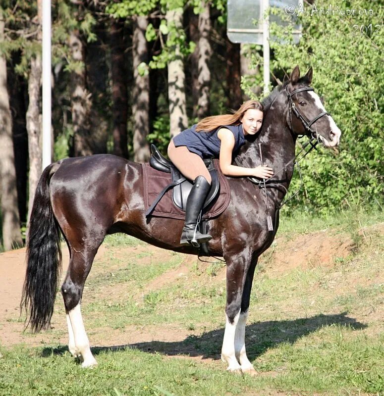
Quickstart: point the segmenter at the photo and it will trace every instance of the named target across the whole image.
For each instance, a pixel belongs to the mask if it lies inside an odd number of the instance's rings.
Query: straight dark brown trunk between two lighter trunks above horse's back
[[[113,154],[128,158],[127,139],[127,72],[124,60],[124,21],[113,20],[110,30],[111,79],[113,99]],[[134,96],[135,97],[135,96]]]

